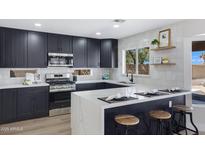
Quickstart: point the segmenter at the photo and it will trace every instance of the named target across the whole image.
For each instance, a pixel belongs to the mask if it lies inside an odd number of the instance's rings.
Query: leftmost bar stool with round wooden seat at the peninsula
[[[125,126],[125,135],[128,135],[128,129],[132,126],[137,126],[140,119],[130,114],[120,114],[115,116],[115,122],[119,125]]]

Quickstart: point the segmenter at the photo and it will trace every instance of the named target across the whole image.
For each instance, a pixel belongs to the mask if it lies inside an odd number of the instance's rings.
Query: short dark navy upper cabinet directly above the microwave
[[[72,53],[72,37],[67,35],[48,34],[48,52]]]

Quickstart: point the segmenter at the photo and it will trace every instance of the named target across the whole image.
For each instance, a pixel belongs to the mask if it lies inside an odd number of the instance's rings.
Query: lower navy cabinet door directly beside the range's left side
[[[35,88],[32,91],[35,117],[48,116],[48,87]]]

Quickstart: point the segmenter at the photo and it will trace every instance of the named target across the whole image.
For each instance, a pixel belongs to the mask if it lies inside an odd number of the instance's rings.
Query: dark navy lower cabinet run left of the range
[[[48,87],[0,90],[0,123],[48,116]]]

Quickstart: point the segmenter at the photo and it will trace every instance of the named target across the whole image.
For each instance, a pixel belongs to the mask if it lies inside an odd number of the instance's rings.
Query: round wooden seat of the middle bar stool
[[[159,120],[167,120],[170,119],[172,116],[169,112],[163,110],[150,111],[149,115],[150,117]]]

